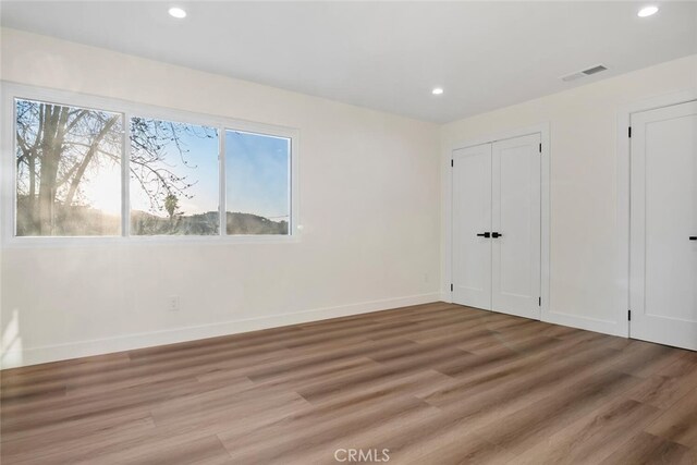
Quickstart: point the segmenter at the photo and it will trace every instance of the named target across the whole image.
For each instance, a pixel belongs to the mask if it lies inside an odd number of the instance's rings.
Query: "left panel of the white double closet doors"
[[[453,302],[491,308],[491,144],[453,151]]]

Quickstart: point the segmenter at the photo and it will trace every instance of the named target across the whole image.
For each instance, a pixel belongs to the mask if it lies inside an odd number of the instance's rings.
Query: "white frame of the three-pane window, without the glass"
[[[26,99],[36,101],[54,102],[64,106],[82,107],[122,113],[124,118],[124,147],[121,160],[122,170],[122,206],[121,206],[121,235],[90,235],[90,236],[17,236],[16,235],[16,137],[15,137],[15,99]],[[157,107],[131,102],[126,100],[98,97],[87,94],[71,93],[65,90],[48,89],[16,83],[0,82],[0,219],[2,227],[2,245],[11,247],[36,247],[36,246],[85,246],[103,244],[181,244],[194,242],[197,244],[220,244],[220,243],[288,243],[299,241],[301,227],[298,223],[298,146],[299,131],[292,127],[278,126],[273,124],[257,123],[244,120],[235,120],[225,117],[196,113],[171,108]],[[194,125],[215,127],[218,134],[219,154],[219,181],[220,193],[219,215],[220,231],[218,235],[131,235],[131,199],[130,199],[130,158],[131,158],[131,118],[148,118],[163,121],[182,122]],[[227,234],[225,216],[225,131],[240,131],[272,137],[290,139],[290,221],[289,234]]]

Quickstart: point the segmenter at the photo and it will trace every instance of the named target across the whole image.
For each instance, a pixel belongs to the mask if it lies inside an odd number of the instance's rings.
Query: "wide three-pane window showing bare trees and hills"
[[[3,161],[15,173],[8,235],[292,235],[294,131],[12,84],[3,90],[15,115],[3,127],[15,154],[14,167]]]

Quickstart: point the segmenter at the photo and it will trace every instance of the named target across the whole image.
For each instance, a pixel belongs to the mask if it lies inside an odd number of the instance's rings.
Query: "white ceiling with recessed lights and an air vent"
[[[697,52],[696,2],[171,4],[3,0],[1,24],[435,122]]]

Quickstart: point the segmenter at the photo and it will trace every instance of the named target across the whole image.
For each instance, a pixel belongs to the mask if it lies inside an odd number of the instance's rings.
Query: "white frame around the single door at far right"
[[[663,107],[686,103],[697,100],[697,90],[677,90],[670,94],[655,96],[623,106],[617,111],[617,198],[616,198],[616,220],[617,220],[617,333],[629,338],[629,179],[632,175],[632,144],[629,142],[628,129],[633,113],[656,110]]]

